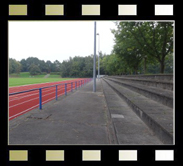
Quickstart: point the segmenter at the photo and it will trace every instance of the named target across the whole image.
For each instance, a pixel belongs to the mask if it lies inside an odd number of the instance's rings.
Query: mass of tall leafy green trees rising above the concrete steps
[[[173,66],[173,22],[116,22],[116,26],[113,53],[123,64],[122,72],[137,74],[143,66],[146,74],[147,65],[159,63],[159,73],[164,73],[167,59]]]

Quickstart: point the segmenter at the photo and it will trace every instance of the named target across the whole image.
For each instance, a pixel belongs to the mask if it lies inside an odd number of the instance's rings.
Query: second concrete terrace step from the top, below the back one
[[[173,108],[173,92],[172,91],[167,91],[160,88],[155,88],[155,87],[150,87],[150,86],[145,86],[145,85],[140,85],[135,83],[129,83],[116,78],[107,77],[106,79],[111,80],[115,83],[118,83],[119,85],[125,86],[133,91],[136,91],[154,101],[164,104],[165,106]]]

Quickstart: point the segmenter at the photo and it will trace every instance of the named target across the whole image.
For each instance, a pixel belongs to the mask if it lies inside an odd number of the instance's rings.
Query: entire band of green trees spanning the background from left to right
[[[115,38],[111,54],[98,53],[101,75],[173,73],[173,22],[116,22],[116,26],[117,30],[111,30]],[[62,63],[36,57],[21,61],[10,58],[9,73],[19,72],[92,77],[93,55],[70,57]]]

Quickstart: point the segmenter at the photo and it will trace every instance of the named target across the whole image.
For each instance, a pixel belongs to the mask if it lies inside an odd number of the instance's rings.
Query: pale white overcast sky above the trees
[[[110,54],[116,29],[114,21],[97,21],[100,51]],[[94,21],[10,21],[9,57],[20,61],[30,56],[40,60],[69,59],[94,53]],[[98,36],[97,36],[98,52]]]

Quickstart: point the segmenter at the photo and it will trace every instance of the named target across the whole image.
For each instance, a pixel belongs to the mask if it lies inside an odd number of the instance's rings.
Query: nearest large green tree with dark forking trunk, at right
[[[112,31],[116,40],[114,50],[120,54],[122,47],[133,43],[142,58],[155,58],[160,64],[160,73],[164,73],[165,57],[173,52],[173,26],[172,22],[120,22],[117,30]],[[125,43],[126,40],[131,42]]]

